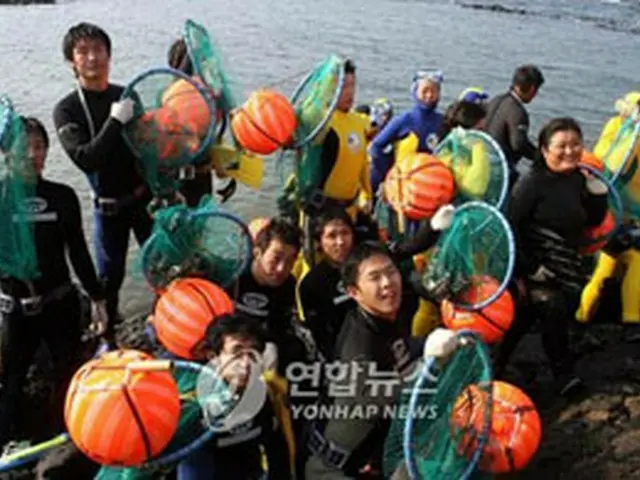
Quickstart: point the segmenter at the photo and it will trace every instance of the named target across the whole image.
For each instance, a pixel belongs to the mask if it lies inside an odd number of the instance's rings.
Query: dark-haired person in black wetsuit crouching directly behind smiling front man
[[[300,314],[313,335],[318,351],[327,360],[347,312],[355,302],[343,286],[340,267],[354,244],[351,217],[340,208],[329,209],[316,221],[315,244],[322,260],[298,284]]]

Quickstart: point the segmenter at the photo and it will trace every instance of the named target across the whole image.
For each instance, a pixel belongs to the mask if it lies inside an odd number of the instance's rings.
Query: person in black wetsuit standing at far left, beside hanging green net
[[[80,202],[67,185],[42,178],[49,138],[42,123],[23,119],[33,161],[35,196],[26,200],[27,221],[34,224],[40,275],[24,282],[0,278],[2,313],[2,393],[0,446],[10,439],[12,421],[33,357],[44,340],[53,361],[54,412],[49,434],[64,430],[62,411],[67,384],[82,361],[80,296],[71,283],[67,256],[92,300],[93,325],[106,324],[104,292],[82,230]],[[4,222],[11,221],[3,219]]]

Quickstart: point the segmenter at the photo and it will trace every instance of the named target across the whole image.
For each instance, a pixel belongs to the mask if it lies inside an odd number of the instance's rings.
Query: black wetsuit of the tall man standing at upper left
[[[122,136],[122,124],[110,117],[111,104],[120,100],[123,88],[109,85],[102,92],[82,92],[95,136],[77,90],[58,102],[53,121],[62,147],[87,175],[94,192],[94,243],[107,293],[107,337],[113,338],[129,235],[133,230],[142,245],[151,234],[153,222],[146,211],[151,195],[137,169],[138,160]]]

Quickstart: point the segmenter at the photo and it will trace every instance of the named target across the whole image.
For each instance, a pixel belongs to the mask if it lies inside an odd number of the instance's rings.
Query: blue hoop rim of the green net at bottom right
[[[487,348],[480,340],[480,337],[472,332],[471,330],[459,330],[456,332],[456,337],[458,338],[458,348],[473,348],[476,352],[476,355],[480,358],[482,362],[482,368],[488,372],[488,377],[493,378],[493,369],[491,367],[491,360],[489,358],[489,354],[487,353]],[[434,375],[431,373],[433,367],[435,366],[437,361],[437,357],[427,357],[420,369],[420,373],[416,382],[414,383],[413,389],[411,391],[411,398],[409,400],[409,411],[407,412],[407,420],[404,425],[404,438],[402,442],[402,448],[404,452],[405,462],[407,464],[407,471],[409,473],[409,478],[411,480],[421,480],[420,474],[418,472],[418,462],[415,457],[415,449],[412,445],[412,437],[413,430],[415,427],[415,412],[418,407],[418,400],[420,397],[420,390],[424,385],[425,381],[428,378],[433,379]],[[490,386],[490,391],[493,392],[493,386]],[[459,480],[468,480],[473,472],[475,471],[478,463],[480,462],[480,457],[482,455],[482,450],[484,449],[485,444],[489,438],[489,432],[491,431],[491,417],[493,411],[493,395],[487,395],[487,408],[484,415],[484,422],[482,426],[482,432],[480,433],[480,438],[478,439],[478,443],[476,445],[476,449],[473,452],[471,459],[469,460],[469,464],[467,465],[466,470],[460,475]],[[448,414],[448,412],[447,412]]]

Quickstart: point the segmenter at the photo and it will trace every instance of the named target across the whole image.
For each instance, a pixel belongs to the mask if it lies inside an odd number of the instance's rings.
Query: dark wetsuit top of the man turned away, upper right
[[[513,186],[518,177],[515,168],[520,159],[525,157],[533,160],[536,156],[536,147],[528,137],[529,114],[515,93],[499,95],[489,102],[484,130],[502,148],[509,164]]]

